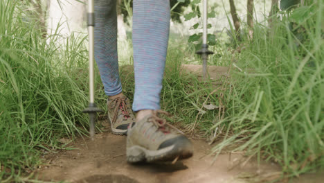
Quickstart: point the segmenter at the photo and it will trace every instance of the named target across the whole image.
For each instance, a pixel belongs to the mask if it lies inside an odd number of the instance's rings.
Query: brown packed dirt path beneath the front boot
[[[104,132],[95,141],[78,139],[64,150],[46,157],[48,164],[38,172],[38,179],[66,182],[246,182],[242,175],[274,173],[275,164],[260,164],[250,159],[244,167],[235,165],[242,154],[221,154],[213,162],[205,141],[192,140],[195,154],[175,164],[127,164],[126,137]],[[206,156],[207,155],[207,156]]]

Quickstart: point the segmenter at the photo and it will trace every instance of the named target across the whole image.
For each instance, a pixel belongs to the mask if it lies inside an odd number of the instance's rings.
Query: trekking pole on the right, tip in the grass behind
[[[207,44],[207,25],[208,25],[208,0],[204,1],[204,8],[203,8],[203,43],[201,44],[201,49],[197,51],[196,53],[198,55],[201,55],[201,60],[203,61],[202,65],[202,75],[204,80],[207,79],[207,60],[208,55],[213,54],[213,51],[208,50],[208,44]]]

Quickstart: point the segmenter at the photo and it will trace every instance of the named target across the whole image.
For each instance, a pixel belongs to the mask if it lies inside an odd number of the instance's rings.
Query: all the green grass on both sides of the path
[[[312,14],[295,26],[303,39],[284,16],[272,35],[263,22],[255,23],[253,41],[211,46],[217,54],[209,64],[231,67],[221,85],[180,74],[181,64],[201,61],[186,37],[171,35],[162,109],[183,130],[216,137],[215,154],[238,144],[233,151],[277,162],[285,177],[323,168],[323,7],[316,1]],[[42,163],[42,150],[65,148],[62,137],[87,134],[87,115],[81,113],[88,103],[87,37],[72,36],[62,47],[55,44],[60,36],[46,40],[36,24],[20,1],[0,1],[0,182],[26,181],[21,176]],[[130,41],[119,46],[122,64],[132,64]],[[122,70],[120,77],[132,99],[133,73]],[[105,109],[101,84],[96,95]],[[209,103],[219,109],[206,110]]]

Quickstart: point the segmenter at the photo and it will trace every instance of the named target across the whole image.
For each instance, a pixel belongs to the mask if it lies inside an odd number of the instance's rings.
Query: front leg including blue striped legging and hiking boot
[[[159,162],[192,156],[192,143],[159,117],[160,92],[168,49],[169,0],[133,1],[136,123],[127,134],[127,162]]]

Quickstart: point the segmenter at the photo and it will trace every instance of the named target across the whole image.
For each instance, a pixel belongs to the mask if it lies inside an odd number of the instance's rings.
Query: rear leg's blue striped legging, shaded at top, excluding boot
[[[122,92],[118,72],[116,0],[95,1],[95,59],[107,96]]]

